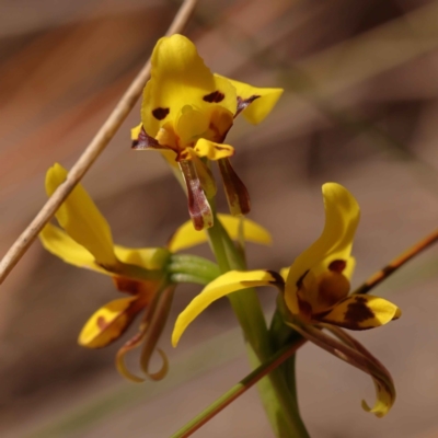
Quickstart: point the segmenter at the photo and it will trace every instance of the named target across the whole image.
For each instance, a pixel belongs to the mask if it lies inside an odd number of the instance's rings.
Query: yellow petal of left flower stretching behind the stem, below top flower
[[[241,218],[230,215],[218,215],[218,218],[230,238],[237,240],[239,238],[239,222]],[[272,244],[269,231],[253,220],[244,218],[243,230],[245,240],[247,242],[260,243],[263,245]],[[188,220],[175,231],[168,244],[168,247],[170,252],[175,253],[176,251],[186,250],[187,247],[207,242],[207,232],[205,230],[196,231],[193,222]]]

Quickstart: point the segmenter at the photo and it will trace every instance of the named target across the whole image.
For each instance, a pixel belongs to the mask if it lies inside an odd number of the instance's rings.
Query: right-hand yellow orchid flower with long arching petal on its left
[[[339,184],[324,184],[322,192],[325,206],[324,231],[316,242],[295,260],[288,273],[283,273],[287,274],[286,284],[281,275],[263,269],[231,270],[219,276],[178,315],[172,334],[173,346],[176,346],[187,326],[209,304],[250,287],[276,286],[284,290],[285,301],[291,313],[290,321],[293,322],[293,318],[297,318],[299,324],[304,326],[325,323],[328,326],[332,324],[350,330],[367,330],[400,318],[400,309],[382,298],[364,295],[348,297],[349,279],[355,264],[350,252],[359,221],[359,206],[353,195]],[[299,324],[293,323],[292,326],[299,327]],[[357,345],[355,349],[358,349]],[[364,350],[360,350],[361,355],[365,355]],[[380,365],[377,365],[377,369],[378,371],[371,373],[374,381],[381,372]],[[390,384],[376,384],[376,405],[372,408],[364,406],[382,416],[391,407],[395,393]]]

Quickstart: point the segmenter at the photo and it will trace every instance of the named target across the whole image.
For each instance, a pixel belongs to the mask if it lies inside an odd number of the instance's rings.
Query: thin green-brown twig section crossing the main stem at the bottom
[[[187,423],[184,427],[182,427],[178,431],[172,435],[171,438],[186,438],[198,430],[203,425],[205,425],[209,419],[211,419],[215,415],[221,412],[224,407],[227,407],[231,402],[246,392],[250,388],[252,388],[255,383],[257,383],[261,379],[267,376],[269,372],[274,371],[277,367],[279,367],[285,360],[289,359],[295,355],[295,351],[301,346],[304,339],[297,339],[291,345],[287,345],[280,350],[278,350],[275,355],[273,355],[268,360],[262,364],[258,368],[256,368],[253,372],[247,374],[244,379],[242,379],[239,383],[232,387],[229,391],[227,391],[223,395],[221,395],[216,402],[211,403],[206,410],[204,410],[199,415],[193,418],[189,423]]]

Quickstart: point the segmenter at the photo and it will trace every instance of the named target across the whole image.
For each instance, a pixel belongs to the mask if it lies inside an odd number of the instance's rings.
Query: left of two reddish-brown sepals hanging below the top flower
[[[192,160],[181,160],[180,169],[187,187],[188,212],[196,230],[204,230],[214,224],[214,216],[203,184]]]

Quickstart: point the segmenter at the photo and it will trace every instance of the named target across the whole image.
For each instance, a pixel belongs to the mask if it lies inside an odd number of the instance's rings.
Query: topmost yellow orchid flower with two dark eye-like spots
[[[157,43],[151,79],[143,91],[141,124],[131,131],[132,148],[160,150],[173,168],[180,168],[197,230],[212,226],[211,192],[206,187],[212,175],[201,159],[218,161],[231,212],[249,212],[247,191],[229,161],[234,148],[223,141],[235,116],[243,112],[250,123],[258,124],[281,93],[281,89],[255,88],[211,73],[183,35]]]

